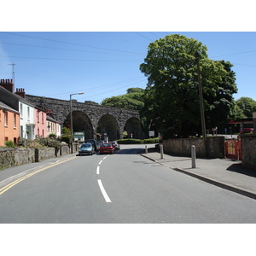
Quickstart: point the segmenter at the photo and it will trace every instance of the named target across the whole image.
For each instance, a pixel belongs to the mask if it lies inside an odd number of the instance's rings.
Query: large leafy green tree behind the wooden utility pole
[[[215,112],[222,109],[220,102],[226,101],[223,104],[228,108],[225,113],[229,112],[232,96],[225,97],[224,101],[224,96],[220,93],[220,88],[224,88],[225,93],[230,86],[236,88],[233,80],[230,85],[225,83],[225,79],[230,79],[227,70],[229,64],[209,59],[207,47],[194,38],[173,34],[149,44],[148,55],[140,66],[140,70],[148,77],[142,109],[145,129],[157,127],[164,137],[201,134],[195,53],[200,55],[201,84],[207,120],[211,120],[213,109]],[[207,124],[212,125],[209,121]]]

